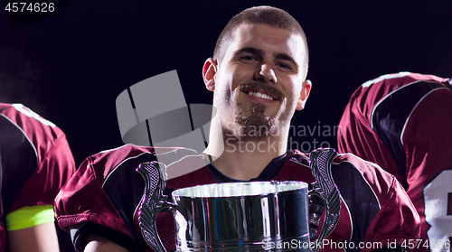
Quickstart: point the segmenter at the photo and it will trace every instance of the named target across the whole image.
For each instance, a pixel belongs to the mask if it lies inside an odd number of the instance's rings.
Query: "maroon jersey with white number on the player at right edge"
[[[340,152],[378,163],[408,191],[419,211],[424,251],[450,251],[451,128],[450,79],[409,72],[365,82],[339,124]]]

